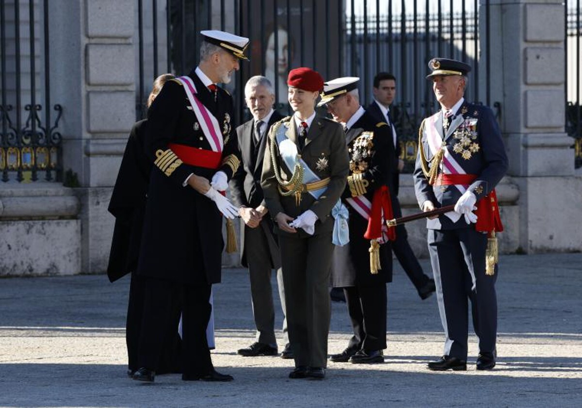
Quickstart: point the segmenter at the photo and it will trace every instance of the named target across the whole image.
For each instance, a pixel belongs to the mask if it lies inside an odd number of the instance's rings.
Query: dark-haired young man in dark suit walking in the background
[[[374,77],[372,93],[374,93],[374,101],[368,105],[367,111],[376,120],[386,122],[390,126],[389,139],[394,146],[394,163],[397,163],[397,166],[392,171],[392,186],[394,192],[392,195],[392,210],[395,217],[402,217],[402,209],[400,209],[400,201],[398,200],[398,189],[400,185],[400,171],[404,167],[404,161],[400,158],[402,146],[400,146],[398,133],[396,133],[396,126],[395,122],[392,121],[393,117],[390,109],[396,96],[395,76],[388,72],[379,72]],[[431,296],[435,291],[434,279],[428,277],[424,273],[423,267],[418,263],[416,255],[414,255],[412,248],[410,248],[408,233],[406,232],[404,224],[396,226],[396,241],[392,242],[392,251],[396,255],[396,259],[398,259],[400,265],[402,265],[404,272],[409,277],[410,282],[416,287],[418,296],[423,300]]]

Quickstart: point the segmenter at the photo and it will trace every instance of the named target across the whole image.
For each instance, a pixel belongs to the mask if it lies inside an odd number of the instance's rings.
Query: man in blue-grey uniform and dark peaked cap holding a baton
[[[429,370],[467,370],[467,299],[479,337],[477,370],[495,367],[497,299],[495,232],[503,230],[495,186],[508,159],[488,107],[463,98],[471,67],[434,58],[427,79],[441,110],[419,132],[414,188],[424,212],[455,205],[427,220],[428,250],[446,340],[443,356]]]

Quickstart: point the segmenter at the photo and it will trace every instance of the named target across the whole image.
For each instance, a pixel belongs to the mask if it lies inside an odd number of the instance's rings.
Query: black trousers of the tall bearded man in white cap
[[[168,330],[177,330],[172,318],[175,302],[182,309],[182,372],[185,375],[206,375],[214,367],[206,339],[210,318],[210,284],[183,284],[144,277],[144,311],[141,321],[138,362],[140,367],[154,370],[164,354],[164,337]]]

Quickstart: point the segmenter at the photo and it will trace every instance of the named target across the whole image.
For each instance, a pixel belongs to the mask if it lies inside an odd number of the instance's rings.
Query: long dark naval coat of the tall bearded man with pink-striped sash
[[[198,100],[217,118],[224,139],[222,158],[240,161],[230,119],[232,97],[218,88],[216,100],[191,72]],[[202,127],[182,85],[166,82],[150,107],[145,137],[145,153],[151,161],[168,152],[169,143],[211,150]],[[223,161],[223,163],[225,163]],[[155,164],[155,163],[154,163]],[[190,174],[211,180],[217,171],[230,179],[235,169],[222,164],[218,169],[191,166],[173,161],[158,163],[151,171],[144,233],[137,272],[144,276],[178,283],[218,283],[221,281],[222,215],[214,202],[183,183]]]

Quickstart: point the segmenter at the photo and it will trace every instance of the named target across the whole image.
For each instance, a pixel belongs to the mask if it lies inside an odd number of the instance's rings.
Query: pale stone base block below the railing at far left
[[[80,235],[80,220],[0,221],[0,276],[79,273]]]

